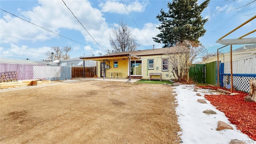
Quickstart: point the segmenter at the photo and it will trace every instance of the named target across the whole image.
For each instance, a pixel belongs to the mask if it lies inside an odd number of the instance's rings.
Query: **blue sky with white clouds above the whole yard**
[[[153,45],[162,48],[163,44],[154,42],[152,37],[160,33],[156,28],[160,25],[156,16],[161,9],[168,11],[168,2],[172,1],[0,0],[0,57],[46,60],[46,52],[52,52],[54,46],[71,47],[70,58],[104,55],[108,50],[112,52],[109,36],[121,21],[138,40],[140,46],[137,50],[152,49]],[[202,2],[198,0],[198,4]],[[206,33],[199,39],[208,52],[216,52],[223,46],[216,40],[256,14],[256,2],[239,8],[250,2],[210,1],[201,14],[208,18],[204,25]],[[224,39],[238,38],[255,28],[256,20],[252,20]],[[252,37],[256,37],[256,32],[245,38]],[[238,47],[241,45],[234,45],[233,49]]]

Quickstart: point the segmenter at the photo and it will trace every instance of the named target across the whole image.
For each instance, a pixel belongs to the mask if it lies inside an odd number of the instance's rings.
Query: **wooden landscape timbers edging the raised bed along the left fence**
[[[19,80],[18,82],[2,82],[0,83],[0,89],[36,86],[50,83],[50,80]]]

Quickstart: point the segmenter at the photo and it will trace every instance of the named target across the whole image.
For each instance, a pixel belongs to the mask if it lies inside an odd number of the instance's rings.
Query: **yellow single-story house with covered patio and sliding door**
[[[152,75],[152,79],[170,80],[174,76],[167,53],[173,48],[112,52],[103,56],[80,57],[80,59],[96,60],[98,77],[150,79]]]

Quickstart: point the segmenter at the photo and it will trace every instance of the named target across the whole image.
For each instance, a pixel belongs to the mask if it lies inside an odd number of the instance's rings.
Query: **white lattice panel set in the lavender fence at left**
[[[60,66],[33,66],[33,78],[59,78]]]

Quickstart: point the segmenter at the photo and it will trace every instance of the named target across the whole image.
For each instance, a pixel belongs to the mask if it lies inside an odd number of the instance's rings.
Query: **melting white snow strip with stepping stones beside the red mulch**
[[[237,139],[246,144],[255,144],[256,141],[243,134],[236,126],[231,124],[223,112],[217,110],[205,94],[218,94],[210,90],[201,89],[194,92],[194,85],[180,85],[174,89],[176,96],[176,114],[178,124],[182,129],[180,138],[182,144],[229,144],[230,140]],[[196,96],[196,93],[202,96]],[[197,100],[205,99],[207,104],[200,104]],[[213,110],[216,114],[204,114],[204,110]],[[234,130],[216,130],[218,121],[225,122]]]

